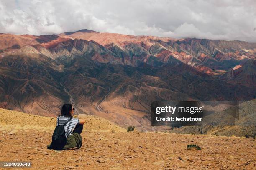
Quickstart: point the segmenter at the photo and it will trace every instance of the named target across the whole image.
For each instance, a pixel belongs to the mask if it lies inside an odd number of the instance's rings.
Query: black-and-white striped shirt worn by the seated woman
[[[60,116],[59,118],[57,117],[56,126],[58,125],[58,119],[59,119],[59,125],[64,125],[69,120],[69,117],[66,117],[66,116]],[[71,132],[69,134],[69,135],[71,135],[73,130],[74,130],[74,128],[79,123],[80,123],[79,119],[72,118],[64,127],[64,129],[65,129],[65,136],[67,137],[69,132]]]

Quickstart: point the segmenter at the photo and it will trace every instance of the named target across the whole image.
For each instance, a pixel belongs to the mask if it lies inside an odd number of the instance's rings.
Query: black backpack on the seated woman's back
[[[59,117],[57,119],[58,119],[58,125],[54,129],[54,133],[51,138],[52,139],[51,146],[55,150],[63,150],[64,146],[67,143],[64,126],[72,119],[72,117],[70,117],[69,120],[64,125],[59,125]],[[71,133],[71,131],[69,132],[69,134]],[[69,136],[69,134],[67,136]]]

